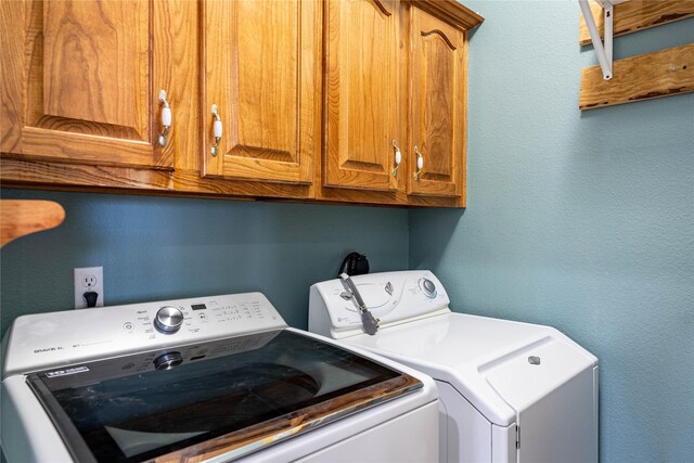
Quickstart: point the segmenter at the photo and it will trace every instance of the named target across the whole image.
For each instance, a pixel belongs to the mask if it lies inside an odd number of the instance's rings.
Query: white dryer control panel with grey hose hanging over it
[[[444,285],[427,270],[369,273],[351,280],[381,330],[450,311]],[[316,283],[309,299],[309,331],[333,338],[364,332],[358,304],[342,280]]]

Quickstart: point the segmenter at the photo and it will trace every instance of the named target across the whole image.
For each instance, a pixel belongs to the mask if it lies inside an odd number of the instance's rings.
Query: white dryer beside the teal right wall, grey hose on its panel
[[[440,459],[597,461],[597,359],[549,327],[454,313],[429,271],[336,279],[311,286],[309,331],[434,377]],[[380,321],[364,332],[358,297]]]

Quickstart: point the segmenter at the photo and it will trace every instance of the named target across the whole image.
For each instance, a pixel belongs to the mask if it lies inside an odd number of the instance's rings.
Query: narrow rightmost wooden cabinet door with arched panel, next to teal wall
[[[465,98],[467,88],[465,33],[412,9],[412,124],[408,193],[464,194]]]

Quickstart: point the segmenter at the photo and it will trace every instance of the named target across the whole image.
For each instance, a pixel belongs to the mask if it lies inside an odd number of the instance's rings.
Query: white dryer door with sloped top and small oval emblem
[[[516,410],[518,463],[597,461],[597,366],[548,337],[480,373]]]

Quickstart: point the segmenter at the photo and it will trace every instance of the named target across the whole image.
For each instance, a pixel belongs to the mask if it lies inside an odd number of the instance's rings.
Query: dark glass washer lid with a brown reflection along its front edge
[[[166,356],[180,364],[155,370]],[[27,383],[85,462],[239,458],[422,387],[292,330],[53,368]]]

